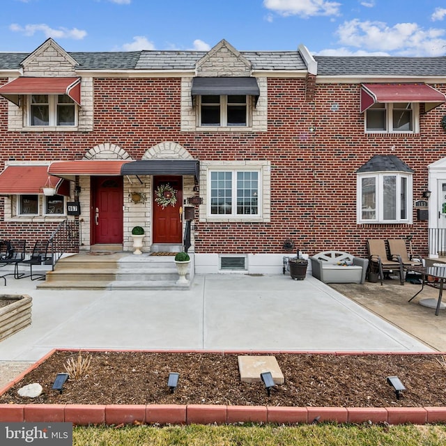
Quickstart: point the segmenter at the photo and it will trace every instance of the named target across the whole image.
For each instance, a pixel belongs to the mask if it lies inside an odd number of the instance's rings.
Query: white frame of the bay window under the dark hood
[[[396,196],[400,196],[401,178],[407,178],[407,218],[397,218],[395,220],[384,220],[383,210],[383,178],[384,176],[397,176]],[[362,219],[362,179],[376,179],[376,218],[374,220]],[[396,202],[397,215],[401,215],[399,199]],[[356,222],[357,224],[413,224],[413,175],[407,172],[398,171],[380,171],[369,174],[358,174],[356,182]]]

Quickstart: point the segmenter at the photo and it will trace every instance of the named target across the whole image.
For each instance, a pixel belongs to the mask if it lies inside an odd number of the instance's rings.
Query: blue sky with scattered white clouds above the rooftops
[[[210,49],[446,55],[444,0],[2,0],[0,51]]]

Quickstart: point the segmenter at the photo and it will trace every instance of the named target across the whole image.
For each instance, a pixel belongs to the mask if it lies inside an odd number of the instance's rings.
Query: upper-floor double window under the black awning
[[[247,95],[199,96],[199,125],[213,127],[246,127],[248,125]]]

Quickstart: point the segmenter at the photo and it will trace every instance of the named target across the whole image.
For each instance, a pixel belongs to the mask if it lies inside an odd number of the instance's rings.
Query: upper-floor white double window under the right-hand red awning
[[[377,102],[365,112],[367,132],[417,132],[418,104]]]

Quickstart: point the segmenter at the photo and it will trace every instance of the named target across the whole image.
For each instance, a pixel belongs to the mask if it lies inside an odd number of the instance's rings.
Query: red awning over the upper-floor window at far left
[[[80,77],[17,77],[0,86],[0,95],[19,105],[20,95],[68,95],[81,105]]]

